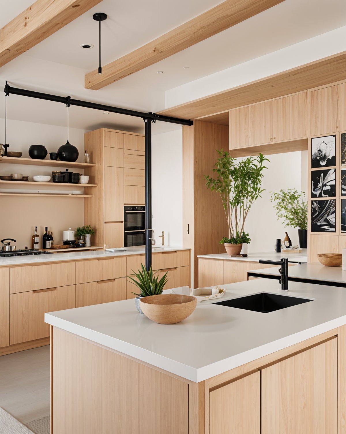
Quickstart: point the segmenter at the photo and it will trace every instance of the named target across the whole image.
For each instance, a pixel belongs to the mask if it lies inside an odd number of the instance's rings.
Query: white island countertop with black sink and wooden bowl
[[[46,313],[45,321],[199,382],[346,324],[344,288],[289,285],[290,291],[283,293],[276,280],[233,283],[223,286],[227,293],[221,300],[265,291],[313,301],[269,313],[203,301],[184,321],[163,325],[138,313],[135,300],[130,299]]]

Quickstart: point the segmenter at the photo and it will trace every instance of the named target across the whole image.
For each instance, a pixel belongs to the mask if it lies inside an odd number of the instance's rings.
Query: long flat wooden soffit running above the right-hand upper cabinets
[[[225,112],[267,99],[280,98],[290,93],[302,92],[341,80],[346,80],[346,51],[165,109],[158,114],[183,119],[202,118],[201,120],[208,121],[209,119],[204,119],[204,117],[210,117],[214,113]],[[222,115],[218,117],[222,121]],[[211,120],[213,122],[213,118]]]

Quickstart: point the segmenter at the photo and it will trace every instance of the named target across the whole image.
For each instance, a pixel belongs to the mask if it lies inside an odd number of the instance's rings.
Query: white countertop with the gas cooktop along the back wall
[[[47,262],[59,262],[59,261],[77,261],[85,259],[103,258],[105,256],[129,256],[129,255],[140,255],[145,253],[144,246],[138,247],[126,247],[128,250],[123,250],[121,252],[106,252],[105,250],[96,250],[93,252],[63,252],[63,253],[50,253],[45,255],[32,255],[32,256],[8,256],[0,258],[1,266],[15,266],[15,265],[33,265],[39,263]],[[184,247],[157,247],[152,249],[152,253],[167,252],[167,251],[177,251],[177,250],[189,250]]]

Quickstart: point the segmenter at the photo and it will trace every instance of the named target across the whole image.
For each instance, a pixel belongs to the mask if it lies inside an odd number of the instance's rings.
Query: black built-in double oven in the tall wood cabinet
[[[124,207],[124,247],[145,245],[145,207]]]

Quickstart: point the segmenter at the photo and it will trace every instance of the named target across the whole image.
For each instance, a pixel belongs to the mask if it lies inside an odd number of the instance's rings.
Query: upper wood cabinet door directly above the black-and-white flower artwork
[[[342,85],[311,92],[311,135],[340,131]]]

